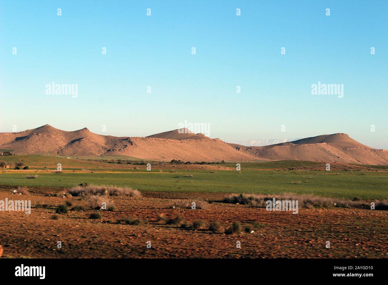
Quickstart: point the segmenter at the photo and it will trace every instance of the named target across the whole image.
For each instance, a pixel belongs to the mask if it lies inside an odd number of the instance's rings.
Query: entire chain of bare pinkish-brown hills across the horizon
[[[123,155],[157,161],[303,160],[388,164],[388,151],[367,147],[344,133],[321,135],[265,146],[244,146],[209,138],[183,128],[147,137],[116,137],[87,128],[62,131],[50,125],[18,133],[0,133],[0,149],[15,154],[65,156]]]

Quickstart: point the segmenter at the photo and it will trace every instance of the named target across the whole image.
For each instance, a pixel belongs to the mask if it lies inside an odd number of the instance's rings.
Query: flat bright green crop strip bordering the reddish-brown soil
[[[192,174],[192,177],[186,176]],[[0,185],[68,188],[82,182],[116,185],[140,191],[224,193],[312,193],[352,199],[388,198],[388,173],[362,171],[155,171],[43,173],[36,179],[22,173],[0,173]]]

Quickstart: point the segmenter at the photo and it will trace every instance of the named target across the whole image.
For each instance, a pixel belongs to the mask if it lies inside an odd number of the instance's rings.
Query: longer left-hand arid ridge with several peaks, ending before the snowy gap
[[[16,154],[125,155],[171,161],[267,161],[239,152],[220,139],[182,129],[149,137],[116,137],[92,133],[87,128],[62,131],[45,125],[19,133],[0,133],[0,148]]]

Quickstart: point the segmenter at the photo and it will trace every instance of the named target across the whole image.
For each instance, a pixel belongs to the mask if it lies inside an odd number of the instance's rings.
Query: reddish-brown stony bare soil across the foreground
[[[205,209],[172,209],[177,199],[220,200],[222,193],[143,192],[142,197],[109,197],[114,211],[98,211],[102,219],[89,219],[94,210],[69,211],[51,219],[55,207],[65,201],[87,206],[78,197],[45,197],[58,193],[29,188],[30,195],[13,195],[13,187],[0,188],[0,200],[31,200],[31,214],[0,211],[0,245],[4,258],[218,258],[218,257],[388,257],[387,211],[364,209],[300,209],[269,212],[263,208],[213,202]],[[35,208],[36,204],[49,208]],[[203,220],[198,230],[180,228],[158,221],[158,215],[181,214],[192,222]],[[116,224],[133,216],[145,219],[143,225]],[[240,221],[242,225],[261,223],[254,233],[227,235],[208,230],[210,221],[223,228]],[[62,248],[57,249],[57,241]],[[147,248],[147,242],[151,248]],[[237,241],[241,248],[236,248]],[[326,248],[326,241],[330,248]]]

